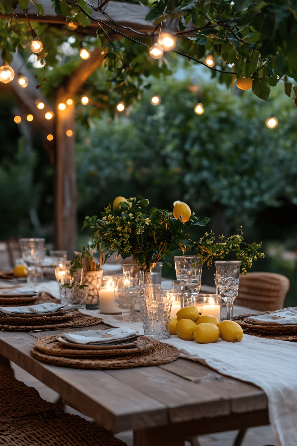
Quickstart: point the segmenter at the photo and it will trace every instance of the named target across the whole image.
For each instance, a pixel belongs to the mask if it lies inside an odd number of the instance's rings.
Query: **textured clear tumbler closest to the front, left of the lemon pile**
[[[173,293],[161,291],[159,284],[144,285],[141,296],[142,324],[144,334],[150,338],[168,339]]]

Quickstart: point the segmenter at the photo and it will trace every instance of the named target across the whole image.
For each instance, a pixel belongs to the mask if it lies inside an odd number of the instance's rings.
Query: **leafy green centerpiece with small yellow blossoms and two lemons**
[[[191,240],[188,229],[192,226],[205,226],[210,219],[197,217],[186,203],[178,202],[172,212],[152,207],[146,210],[149,200],[136,197],[117,197],[113,205],[110,203],[97,215],[85,217],[83,228],[89,227],[93,244],[83,248],[81,256],[74,256],[71,270],[80,267],[80,262],[92,248],[108,251],[106,258],[117,252],[123,259],[132,256],[135,263],[148,272],[160,261],[176,249],[183,253],[193,250],[194,254],[203,258],[203,263],[211,266],[212,260],[223,259],[229,252],[236,253],[236,259],[241,261],[243,273],[252,266],[252,262],[263,258],[259,252],[261,244],[244,242],[242,227],[237,235],[224,238],[205,232],[198,241]]]

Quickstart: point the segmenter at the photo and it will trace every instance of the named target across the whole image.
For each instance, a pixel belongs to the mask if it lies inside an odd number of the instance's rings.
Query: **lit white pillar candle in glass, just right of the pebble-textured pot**
[[[114,303],[114,279],[113,276],[97,278],[99,311],[101,314],[122,314],[122,310]]]

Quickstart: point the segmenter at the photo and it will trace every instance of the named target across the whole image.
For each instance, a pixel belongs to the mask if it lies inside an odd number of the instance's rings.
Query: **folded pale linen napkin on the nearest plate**
[[[83,330],[74,333],[62,333],[61,338],[76,344],[109,345],[134,341],[139,335],[129,327],[113,328],[111,330]]]

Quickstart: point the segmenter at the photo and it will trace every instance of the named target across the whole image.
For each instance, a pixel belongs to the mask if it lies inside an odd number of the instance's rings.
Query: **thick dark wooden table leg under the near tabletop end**
[[[186,434],[185,434],[186,437]],[[184,446],[185,439],[176,438],[167,426],[133,431],[133,446]]]

